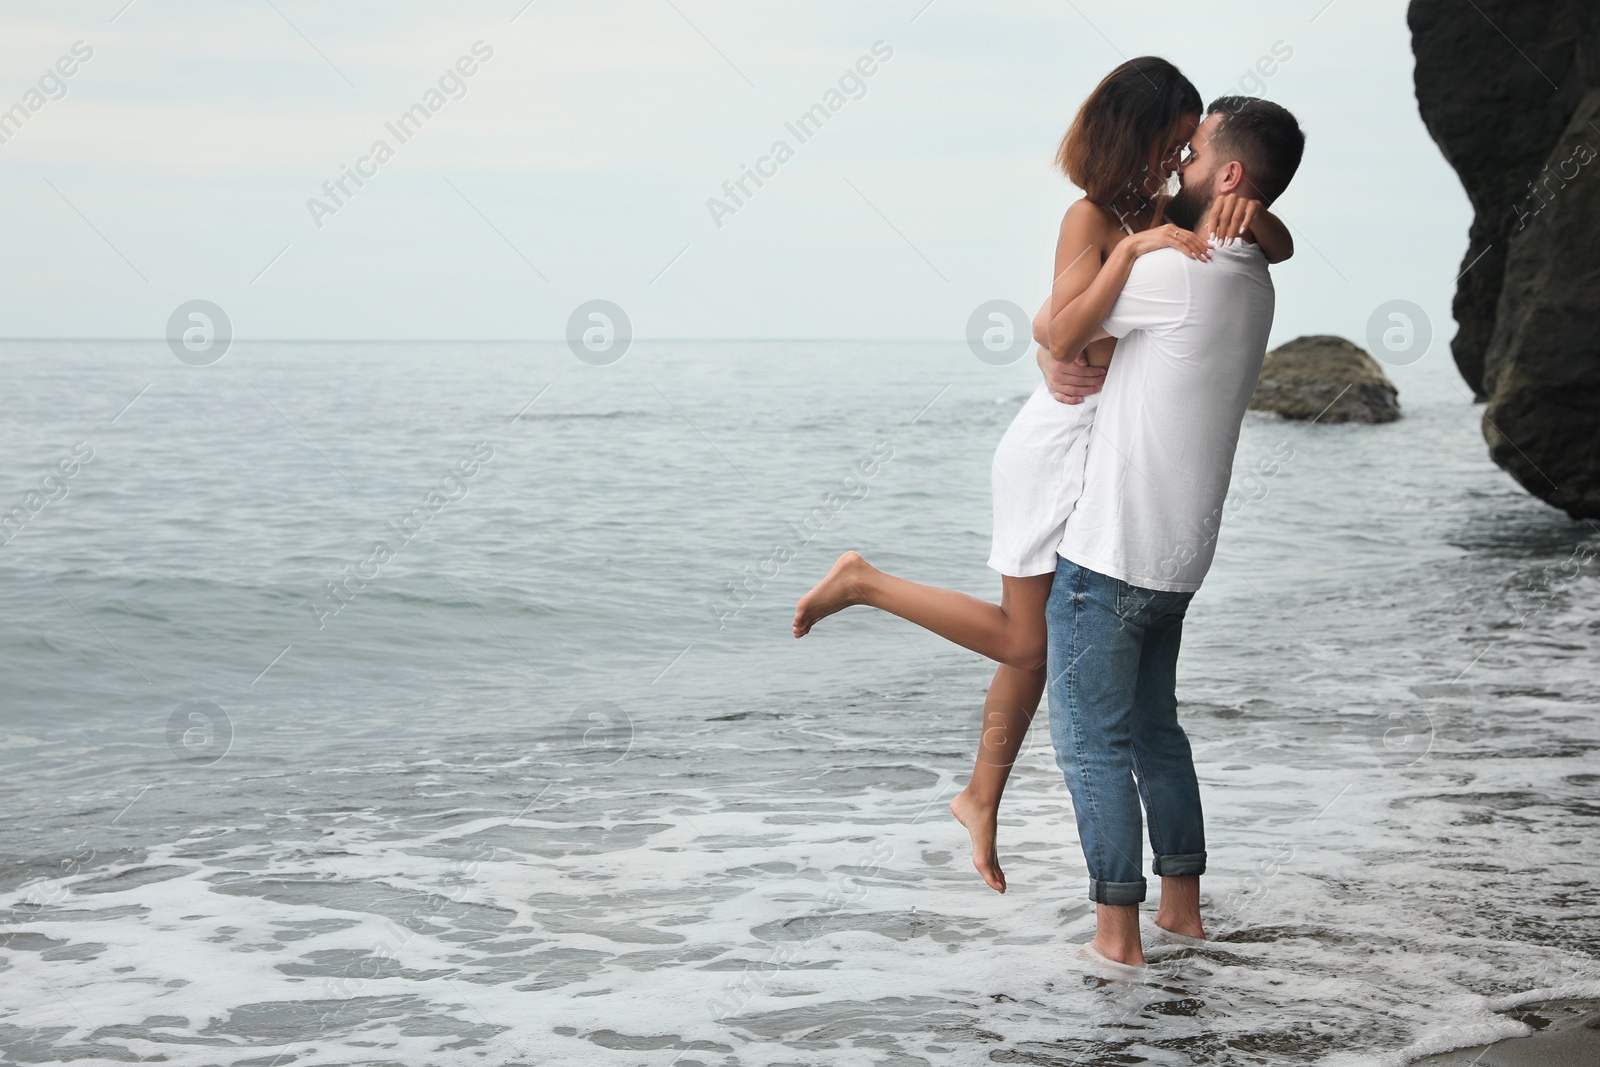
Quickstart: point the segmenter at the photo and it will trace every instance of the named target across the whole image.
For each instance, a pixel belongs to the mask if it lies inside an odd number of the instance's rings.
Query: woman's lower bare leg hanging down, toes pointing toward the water
[[[950,801],[950,814],[973,837],[973,867],[989,888],[1005,893],[1005,872],[995,849],[1000,793],[1005,792],[1011,766],[1016,763],[1027,726],[1034,721],[1038,701],[1045,694],[1045,669],[1019,670],[1000,664],[989,683],[984,701],[984,728],[978,737],[978,760],[966,789]]]

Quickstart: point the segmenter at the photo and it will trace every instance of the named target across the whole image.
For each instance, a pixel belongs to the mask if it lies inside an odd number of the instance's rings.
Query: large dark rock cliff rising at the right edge
[[[1475,218],[1451,342],[1490,456],[1600,517],[1600,3],[1413,0],[1422,122]]]

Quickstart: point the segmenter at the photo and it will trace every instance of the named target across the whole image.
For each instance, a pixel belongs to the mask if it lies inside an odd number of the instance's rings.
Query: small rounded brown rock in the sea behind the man
[[[1400,394],[1378,360],[1344,338],[1294,338],[1267,352],[1250,406],[1286,419],[1394,422]]]

